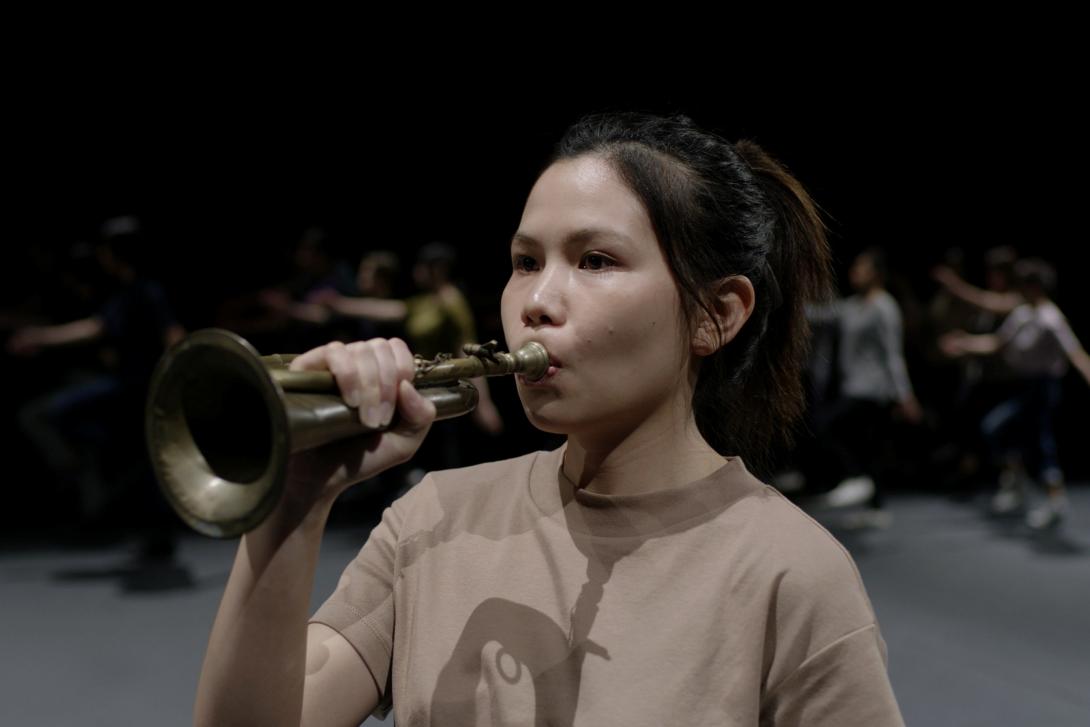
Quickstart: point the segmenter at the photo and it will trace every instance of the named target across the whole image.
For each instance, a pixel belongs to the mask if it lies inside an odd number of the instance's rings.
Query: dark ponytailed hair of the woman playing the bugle
[[[548,163],[588,154],[610,163],[643,202],[690,327],[700,311],[711,313],[716,281],[752,281],[754,311],[728,346],[703,360],[692,403],[708,444],[767,472],[804,408],[806,304],[832,290],[816,206],[755,143],[731,144],[685,116],[585,117]]]

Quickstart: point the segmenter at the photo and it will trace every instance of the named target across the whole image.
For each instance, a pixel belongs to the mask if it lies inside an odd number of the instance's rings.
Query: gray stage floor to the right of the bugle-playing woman
[[[892,502],[894,524],[831,525],[852,552],[908,725],[1090,725],[1090,489],[1065,526],[1031,535],[983,502]]]

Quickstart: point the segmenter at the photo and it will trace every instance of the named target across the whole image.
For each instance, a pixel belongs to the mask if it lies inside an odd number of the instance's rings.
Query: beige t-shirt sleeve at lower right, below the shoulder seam
[[[765,699],[762,727],[904,727],[877,625],[810,656]]]

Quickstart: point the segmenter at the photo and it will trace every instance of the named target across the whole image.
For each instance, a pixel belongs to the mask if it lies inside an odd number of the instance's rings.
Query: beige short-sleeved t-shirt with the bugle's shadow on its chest
[[[398,727],[903,724],[850,556],[740,459],[605,496],[564,449],[425,477],[314,616]]]

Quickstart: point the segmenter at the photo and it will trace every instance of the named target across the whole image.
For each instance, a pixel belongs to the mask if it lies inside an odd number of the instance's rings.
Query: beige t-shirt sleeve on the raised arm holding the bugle
[[[382,522],[341,573],[336,590],[311,618],[311,622],[328,626],[352,644],[375,679],[383,698],[380,705],[389,696],[393,583],[401,525],[400,509],[387,508]]]

